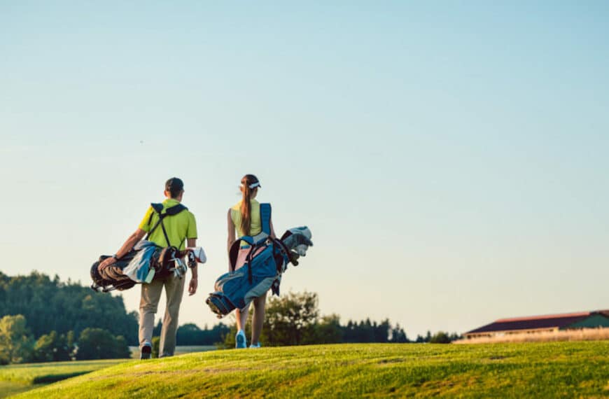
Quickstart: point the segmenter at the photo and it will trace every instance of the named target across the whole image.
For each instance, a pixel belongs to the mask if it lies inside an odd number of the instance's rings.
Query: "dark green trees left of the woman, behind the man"
[[[160,321],[156,335],[160,335]],[[229,328],[178,328],[179,345],[214,345]],[[42,273],[0,272],[0,364],[128,358],[139,344],[138,314],[123,297]]]

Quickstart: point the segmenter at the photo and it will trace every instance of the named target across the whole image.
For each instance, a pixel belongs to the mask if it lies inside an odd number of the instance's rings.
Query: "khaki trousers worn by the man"
[[[139,302],[139,345],[144,342],[152,342],[153,330],[155,328],[155,314],[159,306],[159,300],[163,287],[167,295],[165,306],[165,317],[161,329],[161,340],[159,346],[159,357],[174,356],[176,351],[176,332],[178,330],[178,315],[180,303],[184,293],[184,281],[173,274],[153,279],[149,284],[141,284],[141,300]]]

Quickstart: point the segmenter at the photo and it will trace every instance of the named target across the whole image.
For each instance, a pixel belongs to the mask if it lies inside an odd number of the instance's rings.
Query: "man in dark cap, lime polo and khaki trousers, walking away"
[[[137,230],[135,230],[127,241],[125,241],[125,244],[120,247],[115,255],[100,263],[99,268],[103,269],[104,267],[108,267],[122,256],[125,256],[132,250],[133,246],[143,239],[146,233],[151,232],[151,230],[152,232],[150,237],[148,237],[148,240],[153,241],[158,246],[175,246],[179,250],[183,250],[183,248],[185,248],[185,239],[186,246],[196,246],[197,223],[195,221],[195,216],[188,211],[186,207],[181,205],[183,194],[183,181],[177,177],[169,179],[165,183],[166,200],[162,202],[162,211],[160,211],[160,214],[163,215],[162,220],[159,220],[158,212],[155,211],[153,207],[149,207]],[[174,212],[167,212],[167,209],[172,207],[174,209],[179,209],[177,214],[174,214]],[[188,283],[188,293],[194,295],[197,292],[197,266],[195,265],[191,270],[193,271],[193,274],[190,283]],[[158,309],[163,287],[165,287],[165,293],[167,295],[167,304],[161,330],[159,356],[174,355],[180,303],[182,302],[182,294],[184,291],[184,281],[185,279],[164,271],[156,274],[151,283],[141,284],[141,300],[139,304],[139,346],[142,359],[151,358],[155,314]]]

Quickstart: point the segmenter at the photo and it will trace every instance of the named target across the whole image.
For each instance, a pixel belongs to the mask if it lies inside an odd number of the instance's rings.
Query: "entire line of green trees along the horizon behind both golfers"
[[[250,313],[251,316],[251,313]],[[123,297],[97,293],[80,283],[38,272],[7,276],[0,272],[0,363],[129,357],[137,346],[138,314],[127,312]],[[234,321],[234,318],[233,320]],[[230,318],[229,318],[230,322]],[[235,323],[202,329],[193,323],[178,328],[178,345],[235,347]],[[251,323],[248,323],[251,325]],[[161,321],[154,335],[160,335]],[[250,332],[247,332],[250,335]],[[267,346],[435,342],[458,339],[456,333],[430,332],[411,341],[388,319],[365,318],[341,324],[339,316],[322,316],[316,293],[270,297],[261,341]]]

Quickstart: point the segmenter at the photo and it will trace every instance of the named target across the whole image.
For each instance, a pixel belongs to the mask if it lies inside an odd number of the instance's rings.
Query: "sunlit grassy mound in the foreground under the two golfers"
[[[19,398],[606,397],[609,341],[341,344],[135,360]]]

